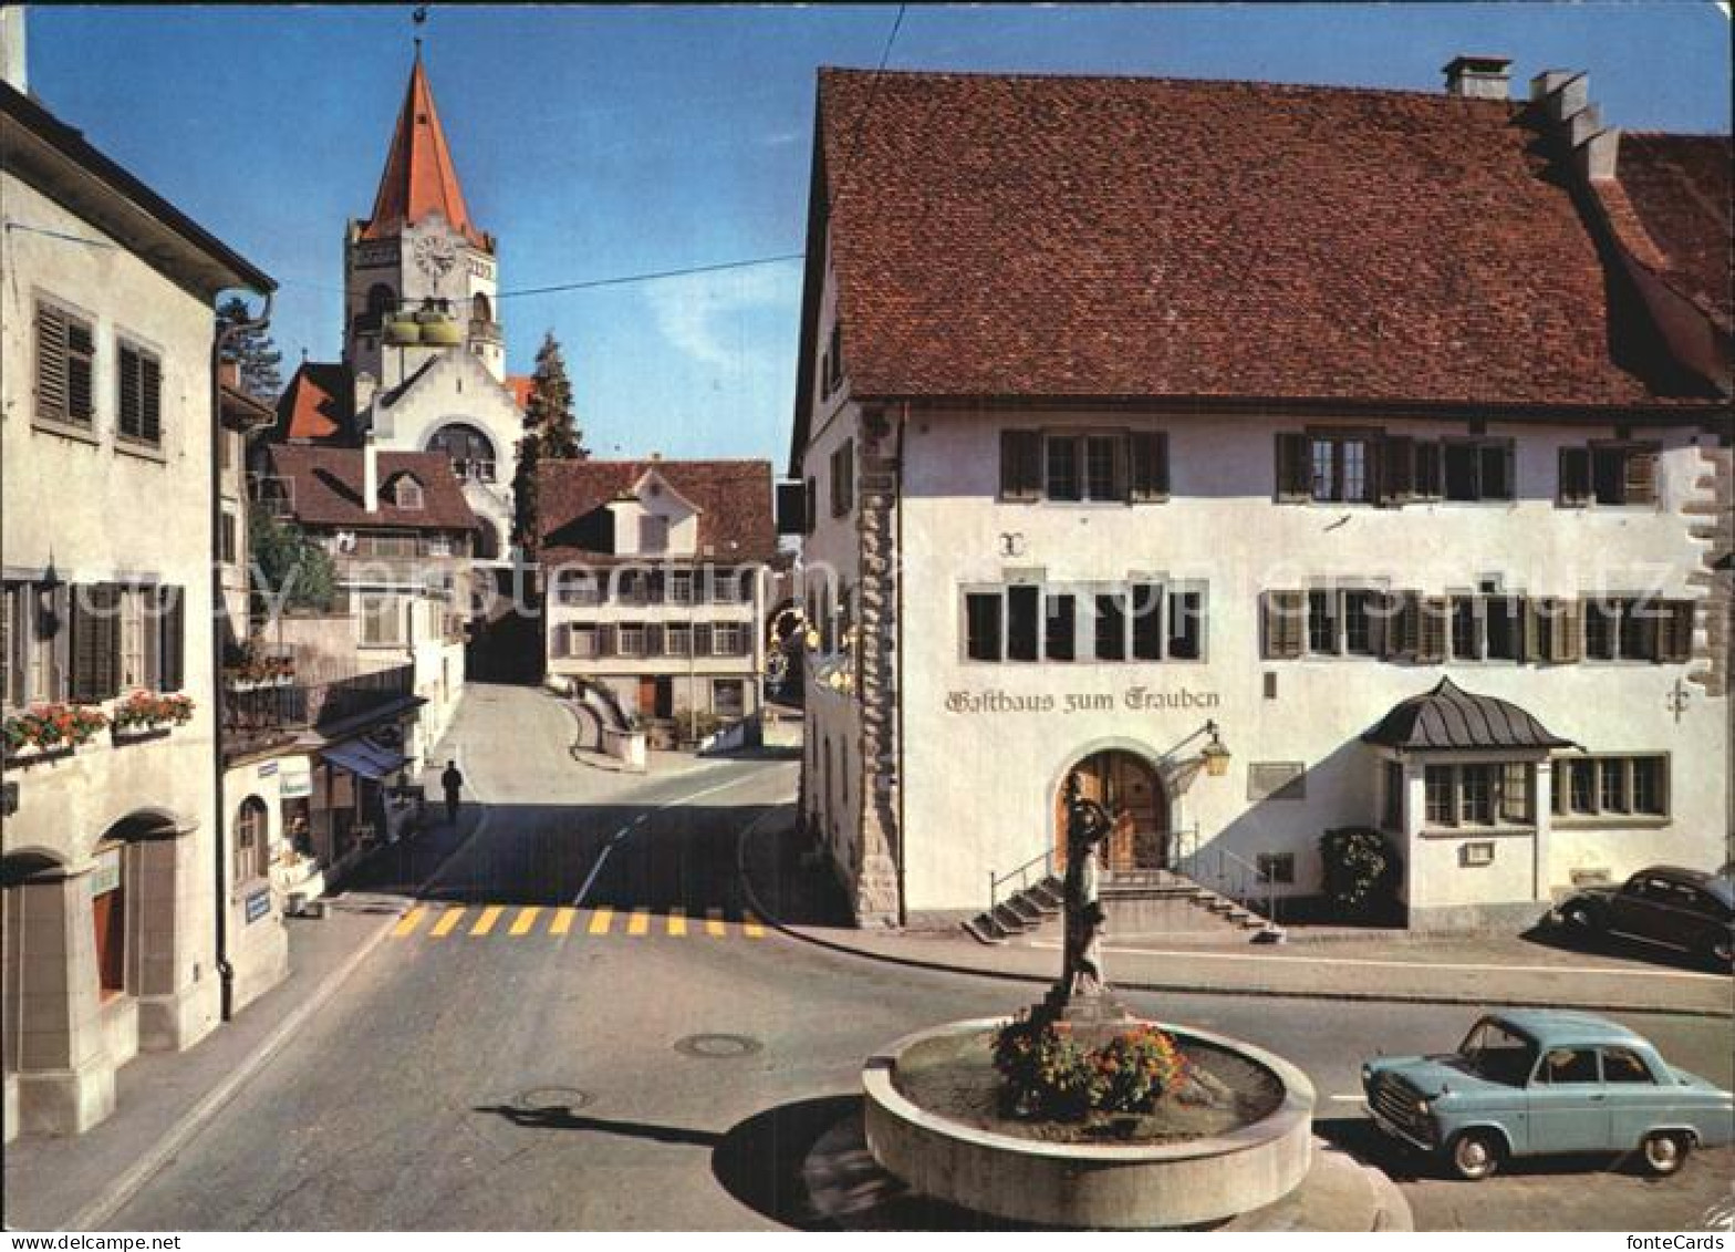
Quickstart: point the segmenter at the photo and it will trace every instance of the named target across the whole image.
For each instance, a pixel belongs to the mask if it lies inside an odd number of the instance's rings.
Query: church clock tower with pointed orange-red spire
[[[385,389],[462,347],[505,382],[498,273],[494,238],[463,203],[418,42],[373,214],[344,238],[344,363]]]

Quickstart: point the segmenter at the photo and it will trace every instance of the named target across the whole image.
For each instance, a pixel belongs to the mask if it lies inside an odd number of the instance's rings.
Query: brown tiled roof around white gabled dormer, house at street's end
[[[769,460],[545,460],[536,476],[543,564],[612,556],[586,519],[652,469],[699,511],[701,559],[769,561],[777,552]]]

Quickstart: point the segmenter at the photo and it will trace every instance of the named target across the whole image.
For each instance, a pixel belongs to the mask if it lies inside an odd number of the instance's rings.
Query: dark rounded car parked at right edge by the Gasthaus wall
[[[1699,870],[1653,865],[1620,887],[1589,887],[1568,896],[1549,920],[1679,948],[1723,969],[1735,962],[1735,882]]]

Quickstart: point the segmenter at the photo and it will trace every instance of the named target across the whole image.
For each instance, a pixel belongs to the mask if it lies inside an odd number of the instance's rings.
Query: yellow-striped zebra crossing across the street
[[[682,906],[564,908],[545,905],[416,905],[392,926],[394,939],[524,939],[560,936],[668,939],[763,939],[765,922],[751,912]]]

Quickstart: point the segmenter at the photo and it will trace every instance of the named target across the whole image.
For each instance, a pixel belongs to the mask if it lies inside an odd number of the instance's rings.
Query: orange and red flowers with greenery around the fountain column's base
[[[1175,1040],[1131,1023],[1088,1047],[1065,1021],[1024,1011],[994,1033],[994,1070],[1020,1117],[1077,1122],[1091,1113],[1149,1113],[1187,1077]]]

